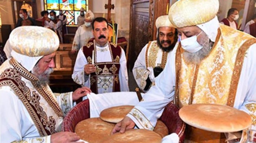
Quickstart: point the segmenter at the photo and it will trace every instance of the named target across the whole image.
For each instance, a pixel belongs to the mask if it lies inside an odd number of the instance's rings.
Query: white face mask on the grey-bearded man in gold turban
[[[198,35],[194,35],[190,38],[186,38],[184,40],[180,40],[181,46],[185,51],[188,51],[189,53],[195,53],[203,48],[202,45],[200,45],[197,42],[197,36],[199,36],[203,31],[201,31]]]

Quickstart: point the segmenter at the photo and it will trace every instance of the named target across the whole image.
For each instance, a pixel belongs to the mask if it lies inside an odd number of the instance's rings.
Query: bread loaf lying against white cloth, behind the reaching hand
[[[107,108],[100,113],[100,118],[110,123],[118,123],[121,121],[133,108],[131,105],[115,106]]]

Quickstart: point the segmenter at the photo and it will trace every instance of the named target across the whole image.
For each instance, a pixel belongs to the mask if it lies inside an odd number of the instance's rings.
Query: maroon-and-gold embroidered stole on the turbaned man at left
[[[63,113],[52,92],[47,87],[37,86],[38,79],[13,58],[10,59],[10,65],[10,68],[0,75],[0,86],[12,88],[26,107],[41,137],[60,131]],[[30,87],[26,85],[25,80],[31,82]]]

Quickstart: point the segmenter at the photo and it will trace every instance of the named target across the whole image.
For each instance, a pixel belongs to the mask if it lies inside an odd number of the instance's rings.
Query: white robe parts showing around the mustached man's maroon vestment
[[[95,57],[95,62],[96,61],[112,62],[110,47],[108,47],[108,44],[105,47],[99,47],[96,45],[96,49],[97,49],[97,52],[96,52],[97,55]],[[81,86],[90,87],[90,75],[87,76],[84,70],[84,67],[87,64],[88,64],[87,59],[81,48],[77,54],[72,78],[77,84],[80,84]],[[105,77],[107,78],[107,76]],[[122,48],[121,48],[121,57],[120,57],[119,82],[120,82],[120,91],[129,91],[126,57],[125,57],[125,52]],[[102,80],[102,82],[98,82],[98,93],[113,92],[113,83],[114,82],[105,81],[105,80]],[[108,87],[107,89],[105,85],[107,85]]]

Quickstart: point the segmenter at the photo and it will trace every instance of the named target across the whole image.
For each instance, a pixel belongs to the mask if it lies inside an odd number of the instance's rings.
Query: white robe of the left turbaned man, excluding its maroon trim
[[[13,68],[10,65],[8,59],[5,61],[0,67],[0,73],[2,76],[4,74],[4,70],[8,68]],[[16,67],[17,68],[17,67]],[[26,71],[27,72],[27,71]],[[27,72],[28,73],[28,72]],[[31,75],[28,75],[31,76]],[[53,128],[57,132],[61,131],[61,125],[63,121],[63,117],[58,117],[51,106],[46,102],[43,96],[40,94],[39,90],[32,84],[27,77],[21,77],[21,81],[25,82],[25,86],[29,88],[29,92],[32,95],[39,95],[37,98],[31,98],[35,102],[35,104],[39,103],[39,108],[42,111],[38,114],[42,116],[46,113],[45,117],[55,119],[55,127]],[[18,82],[17,82],[18,83]],[[55,102],[61,108],[63,115],[71,110],[73,106],[72,102],[72,92],[67,92],[64,94],[54,94],[52,93],[50,87],[45,86],[45,91],[48,92],[48,96],[53,98]],[[23,91],[25,92],[25,91]],[[33,94],[32,94],[33,93]],[[33,112],[28,112],[27,107],[23,104],[22,100],[18,97],[17,91],[14,91],[10,86],[6,86],[4,83],[0,86],[0,142],[1,143],[9,143],[13,141],[24,141],[26,143],[50,143],[51,135],[40,137],[39,130],[35,125],[33,119],[30,114],[34,114]],[[51,126],[49,119],[46,119],[47,124]],[[53,124],[54,125],[54,124]],[[51,127],[52,128],[52,127]]]

